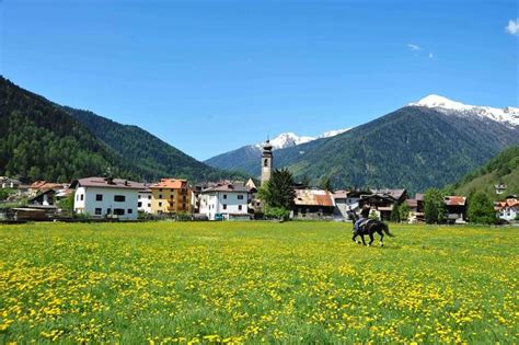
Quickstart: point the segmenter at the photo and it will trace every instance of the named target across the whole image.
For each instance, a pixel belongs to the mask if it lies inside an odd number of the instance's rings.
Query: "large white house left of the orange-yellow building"
[[[137,219],[139,191],[143,184],[104,177],[77,180],[71,188],[76,189],[73,209],[77,214],[99,218]]]

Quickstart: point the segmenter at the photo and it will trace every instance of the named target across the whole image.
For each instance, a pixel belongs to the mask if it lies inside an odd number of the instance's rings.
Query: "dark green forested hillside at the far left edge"
[[[0,77],[0,174],[66,182],[119,161],[51,102]]]

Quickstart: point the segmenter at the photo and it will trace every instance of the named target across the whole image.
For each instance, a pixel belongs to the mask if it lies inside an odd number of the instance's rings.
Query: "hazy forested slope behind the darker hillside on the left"
[[[122,125],[92,112],[64,107],[103,143],[122,154],[150,180],[163,176],[191,180],[244,177],[204,164],[137,126]]]

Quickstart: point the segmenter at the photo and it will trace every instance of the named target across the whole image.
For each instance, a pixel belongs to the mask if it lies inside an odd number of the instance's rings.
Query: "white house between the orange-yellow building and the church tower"
[[[199,196],[200,214],[209,220],[218,219],[250,219],[249,188],[244,185],[231,183],[218,184],[217,186],[201,191]]]

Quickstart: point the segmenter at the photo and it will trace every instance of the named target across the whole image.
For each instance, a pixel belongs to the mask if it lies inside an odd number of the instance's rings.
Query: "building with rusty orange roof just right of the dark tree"
[[[332,193],[318,188],[297,188],[290,218],[333,219],[335,204]]]

